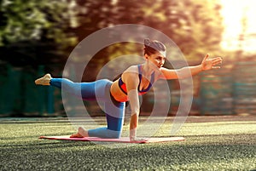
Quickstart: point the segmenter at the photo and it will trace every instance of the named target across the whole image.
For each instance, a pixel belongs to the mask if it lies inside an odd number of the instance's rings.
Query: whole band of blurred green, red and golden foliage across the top
[[[7,56],[17,60],[22,54],[26,56],[23,60],[59,63],[60,59],[67,60],[76,43],[94,31],[128,23],[162,31],[188,60],[201,60],[206,53],[218,54],[223,31],[219,9],[218,0],[3,0],[0,51],[5,60],[9,60]],[[16,54],[11,53],[14,50]],[[94,62],[100,61],[102,66],[118,54],[142,51],[130,50],[116,44],[98,53]],[[107,56],[104,60],[102,54]]]

